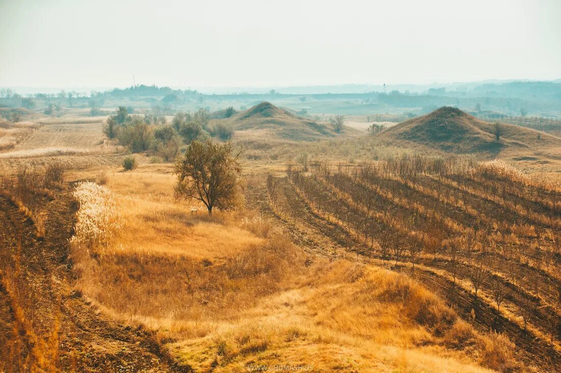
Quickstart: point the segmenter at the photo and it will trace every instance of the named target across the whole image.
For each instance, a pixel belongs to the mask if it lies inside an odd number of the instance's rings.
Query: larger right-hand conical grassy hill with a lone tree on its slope
[[[502,124],[502,127],[504,134],[496,141],[493,123],[444,106],[388,128],[380,133],[380,138],[413,142],[446,152],[483,155],[512,150],[558,150],[561,146],[561,138],[544,132],[511,124]]]

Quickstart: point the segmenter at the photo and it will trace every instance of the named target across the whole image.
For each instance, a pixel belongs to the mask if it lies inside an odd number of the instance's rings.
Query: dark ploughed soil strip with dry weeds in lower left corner
[[[68,192],[48,204],[44,239],[0,197],[0,371],[174,371],[143,330],[100,315],[72,289]],[[21,245],[20,245],[21,243]]]

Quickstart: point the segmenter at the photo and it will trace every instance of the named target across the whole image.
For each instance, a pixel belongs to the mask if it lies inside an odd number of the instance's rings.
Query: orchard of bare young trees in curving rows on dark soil
[[[396,265],[408,258],[413,268],[424,258],[425,265],[445,268],[454,283],[468,281],[476,296],[484,288],[498,311],[509,298],[524,329],[532,319],[552,341],[561,335],[558,208],[549,203],[559,200],[559,188],[474,158],[308,163],[311,175],[308,166],[287,166],[289,180],[311,211],[346,232],[343,244]],[[274,178],[267,184],[276,206]]]

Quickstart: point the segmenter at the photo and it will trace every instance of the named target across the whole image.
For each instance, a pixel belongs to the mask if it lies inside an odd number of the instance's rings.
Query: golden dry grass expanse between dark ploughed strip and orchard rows
[[[180,365],[247,371],[484,372],[514,366],[507,339],[481,335],[411,279],[304,254],[255,213],[191,215],[173,176],[113,172],[121,230],[73,246],[77,287],[105,314],[157,331]],[[165,167],[162,166],[163,169]]]

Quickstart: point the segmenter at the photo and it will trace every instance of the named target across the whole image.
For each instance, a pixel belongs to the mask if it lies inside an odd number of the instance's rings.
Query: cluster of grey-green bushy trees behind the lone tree
[[[164,161],[171,161],[183,143],[189,144],[195,139],[205,142],[213,136],[227,140],[232,137],[233,128],[220,121],[210,123],[210,113],[203,108],[195,113],[179,111],[173,116],[172,123],[167,124],[161,110],[141,116],[130,114],[130,109],[119,106],[106,120],[103,132],[133,153],[153,151]]]

